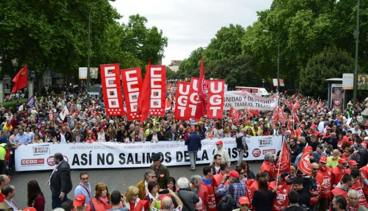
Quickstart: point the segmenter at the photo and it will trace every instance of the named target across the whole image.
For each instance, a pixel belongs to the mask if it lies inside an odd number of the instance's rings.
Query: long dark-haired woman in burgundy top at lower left
[[[45,210],[44,194],[42,193],[41,188],[36,180],[28,181],[27,192],[28,192],[27,206],[33,207],[37,211],[44,211]]]

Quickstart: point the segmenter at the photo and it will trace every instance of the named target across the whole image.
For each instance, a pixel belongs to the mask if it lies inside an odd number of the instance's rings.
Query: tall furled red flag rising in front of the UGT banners
[[[195,110],[195,119],[198,120],[205,115],[206,112],[206,83],[205,83],[205,65],[203,64],[203,55],[201,59],[201,69],[198,81],[198,101],[197,109]]]

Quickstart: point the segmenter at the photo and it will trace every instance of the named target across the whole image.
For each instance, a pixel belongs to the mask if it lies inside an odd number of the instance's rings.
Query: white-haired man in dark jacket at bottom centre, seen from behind
[[[176,195],[184,203],[183,211],[193,211],[194,204],[199,202],[197,194],[190,190],[189,181],[185,177],[179,178],[177,184],[179,191],[176,192]]]

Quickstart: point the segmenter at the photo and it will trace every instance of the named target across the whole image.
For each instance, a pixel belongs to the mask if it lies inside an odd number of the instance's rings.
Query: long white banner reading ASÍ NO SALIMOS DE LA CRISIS
[[[262,160],[266,152],[273,154],[281,149],[282,136],[253,136],[247,138],[249,151],[244,160]],[[217,138],[202,140],[196,163],[210,163]],[[230,159],[237,160],[235,138],[221,138],[229,151]],[[41,143],[21,145],[15,150],[16,171],[49,170],[55,167],[53,155],[62,153],[72,169],[149,167],[154,153],[160,153],[166,166],[189,165],[184,141],[139,143]]]

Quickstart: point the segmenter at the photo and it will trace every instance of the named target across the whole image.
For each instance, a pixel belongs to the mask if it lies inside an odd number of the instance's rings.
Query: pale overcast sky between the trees
[[[244,28],[257,21],[257,11],[268,9],[272,0],[116,0],[111,5],[123,15],[140,14],[147,26],[157,26],[168,38],[162,64],[183,60],[205,47],[222,26],[239,24]]]

